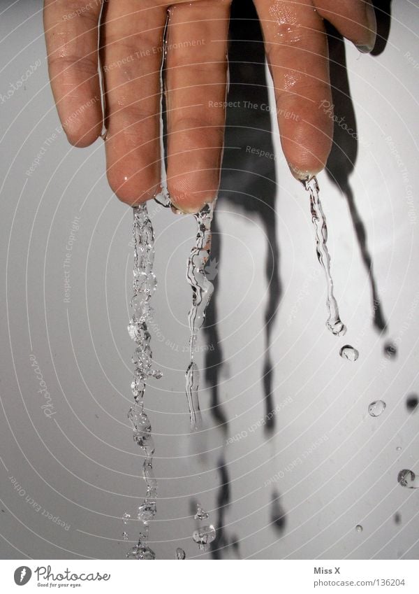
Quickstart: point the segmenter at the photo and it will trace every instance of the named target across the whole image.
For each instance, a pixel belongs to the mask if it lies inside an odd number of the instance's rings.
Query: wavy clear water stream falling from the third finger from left
[[[205,322],[205,311],[214,292],[214,285],[208,280],[205,274],[205,265],[210,258],[211,252],[211,222],[214,214],[215,203],[205,204],[196,213],[198,226],[196,234],[196,246],[191,250],[191,255],[186,264],[186,279],[192,288],[192,306],[189,310],[189,357],[191,362],[186,369],[186,398],[188,399],[189,413],[191,420],[191,431],[198,431],[202,425],[202,418],[199,409],[198,388],[199,370],[193,360],[198,332]]]

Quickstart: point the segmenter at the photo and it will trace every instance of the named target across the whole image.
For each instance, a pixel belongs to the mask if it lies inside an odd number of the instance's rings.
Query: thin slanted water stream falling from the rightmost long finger
[[[330,274],[330,253],[328,250],[328,227],[326,225],[326,218],[323,213],[320,197],[318,196],[318,183],[315,176],[303,183],[304,188],[310,195],[311,220],[313,221],[314,229],[316,231],[317,257],[325,271],[328,287],[326,306],[328,308],[329,317],[326,321],[326,327],[328,327],[328,330],[335,334],[335,336],[341,337],[346,333],[346,326],[339,317],[339,308],[333,292],[333,279]]]

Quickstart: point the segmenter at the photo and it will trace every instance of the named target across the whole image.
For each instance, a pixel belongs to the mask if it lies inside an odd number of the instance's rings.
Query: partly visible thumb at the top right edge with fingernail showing
[[[314,5],[318,13],[361,52],[374,49],[377,24],[370,0],[314,0]]]

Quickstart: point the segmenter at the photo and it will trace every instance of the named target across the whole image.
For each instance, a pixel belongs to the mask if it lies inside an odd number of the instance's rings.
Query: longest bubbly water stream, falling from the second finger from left
[[[138,544],[136,544],[126,557],[128,559],[154,559],[156,555],[147,545],[149,537],[148,523],[156,515],[157,481],[153,472],[154,441],[152,437],[152,424],[144,411],[143,397],[145,386],[149,378],[161,378],[159,370],[154,369],[151,336],[147,322],[152,317],[152,308],[149,300],[156,290],[156,276],[153,272],[154,263],[154,232],[152,222],[147,213],[147,206],[140,204],[133,208],[133,297],[131,299],[132,316],[128,325],[128,334],[135,342],[133,364],[135,370],[131,390],[134,404],[128,411],[128,419],[133,426],[133,439],[139,446],[145,460],[142,464],[142,477],[145,480],[145,500],[138,507],[137,518],[140,521]],[[124,514],[124,523],[131,518]],[[126,534],[126,532],[124,533]],[[127,535],[128,538],[128,535]]]

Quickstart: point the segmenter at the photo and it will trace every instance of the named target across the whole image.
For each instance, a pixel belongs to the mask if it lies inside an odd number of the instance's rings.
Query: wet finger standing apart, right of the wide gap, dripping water
[[[274,80],[281,145],[298,179],[325,167],[332,143],[328,43],[309,0],[255,0]]]

